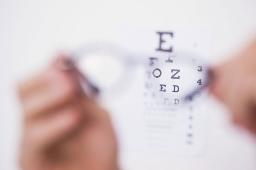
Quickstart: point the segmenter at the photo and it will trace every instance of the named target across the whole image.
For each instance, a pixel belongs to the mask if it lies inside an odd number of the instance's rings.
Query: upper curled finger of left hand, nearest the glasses
[[[26,116],[47,112],[48,109],[61,105],[75,96],[75,85],[66,75],[51,70],[44,81],[44,87],[30,92],[22,102]]]

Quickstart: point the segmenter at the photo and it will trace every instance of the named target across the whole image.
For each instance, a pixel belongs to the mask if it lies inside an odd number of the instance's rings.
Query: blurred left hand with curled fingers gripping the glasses
[[[75,74],[54,64],[20,84],[23,170],[117,170],[108,113],[82,93]]]

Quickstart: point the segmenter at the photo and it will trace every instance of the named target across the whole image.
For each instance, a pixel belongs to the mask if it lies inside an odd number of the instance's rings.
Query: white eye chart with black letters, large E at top
[[[163,29],[164,28],[164,29]],[[114,102],[121,148],[145,153],[204,154],[207,91],[184,95],[204,85],[209,36],[204,29],[131,28],[122,35],[130,51],[143,51],[147,62],[128,93]],[[128,100],[130,99],[130,100]]]

